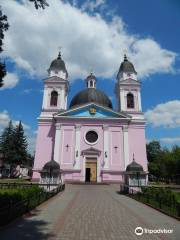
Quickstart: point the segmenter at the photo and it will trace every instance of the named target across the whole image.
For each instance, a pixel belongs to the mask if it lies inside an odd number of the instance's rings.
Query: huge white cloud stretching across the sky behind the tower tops
[[[100,6],[103,1],[94,4]],[[124,50],[141,77],[173,71],[176,54],[162,49],[153,39],[128,33],[118,16],[107,22],[100,14],[90,16],[76,5],[59,0],[38,11],[28,1],[24,5],[14,0],[3,1],[2,7],[10,24],[4,55],[38,77],[46,76],[59,46],[63,46],[71,79],[84,78],[90,68],[97,76],[114,76]]]

